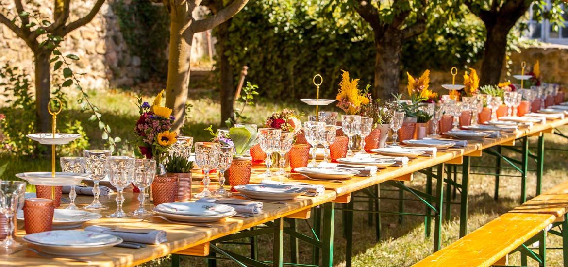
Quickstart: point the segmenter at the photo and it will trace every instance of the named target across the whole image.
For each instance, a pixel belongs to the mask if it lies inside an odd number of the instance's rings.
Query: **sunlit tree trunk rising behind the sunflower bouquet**
[[[191,25],[191,12],[189,13],[187,16],[182,15],[178,18],[172,15],[170,19],[166,107],[173,110],[172,115],[176,117],[176,120],[172,125],[172,131],[178,133],[185,121],[191,41],[194,34],[189,27]]]

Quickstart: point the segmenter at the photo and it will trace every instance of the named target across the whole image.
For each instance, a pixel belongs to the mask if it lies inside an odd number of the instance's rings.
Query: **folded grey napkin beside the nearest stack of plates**
[[[127,242],[160,244],[168,241],[166,231],[140,228],[110,228],[105,226],[87,226],[85,231],[106,233],[122,238]]]

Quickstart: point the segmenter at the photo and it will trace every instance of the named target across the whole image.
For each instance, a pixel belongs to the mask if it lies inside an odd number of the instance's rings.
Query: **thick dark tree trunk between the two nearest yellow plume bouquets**
[[[400,53],[403,34],[397,28],[389,27],[383,34],[375,33],[375,98],[390,99],[398,93],[400,76]]]

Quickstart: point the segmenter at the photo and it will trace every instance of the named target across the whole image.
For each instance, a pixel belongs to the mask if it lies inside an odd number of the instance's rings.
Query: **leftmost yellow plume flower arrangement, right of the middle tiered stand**
[[[350,79],[349,72],[341,70],[341,81],[339,82],[339,93],[337,93],[337,106],[346,114],[358,114],[361,106],[368,105],[370,100],[369,88],[367,85],[365,90],[359,90],[359,79]]]

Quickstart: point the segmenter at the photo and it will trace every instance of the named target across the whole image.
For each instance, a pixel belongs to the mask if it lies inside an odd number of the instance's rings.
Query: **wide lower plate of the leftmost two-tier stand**
[[[70,186],[78,185],[89,174],[56,172],[55,177],[51,177],[51,172],[30,172],[17,173],[16,177],[26,180],[30,185]]]

